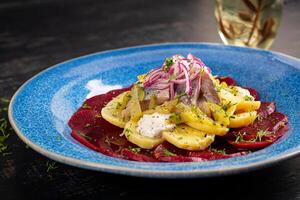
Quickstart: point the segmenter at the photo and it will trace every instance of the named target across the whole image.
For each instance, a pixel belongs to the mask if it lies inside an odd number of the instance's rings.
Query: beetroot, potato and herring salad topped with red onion
[[[214,76],[199,58],[174,55],[127,88],[87,99],[72,137],[102,154],[144,162],[204,162],[263,149],[288,130],[275,103]]]

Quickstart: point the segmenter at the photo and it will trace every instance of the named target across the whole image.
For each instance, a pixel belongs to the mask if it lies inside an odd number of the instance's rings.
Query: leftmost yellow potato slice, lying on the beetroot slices
[[[125,101],[126,99],[124,98],[127,98],[129,94],[129,91],[123,92],[108,102],[108,104],[101,110],[102,117],[111,124],[124,128],[126,121],[124,121],[122,118],[122,110],[120,107],[124,107],[124,103],[127,104]]]

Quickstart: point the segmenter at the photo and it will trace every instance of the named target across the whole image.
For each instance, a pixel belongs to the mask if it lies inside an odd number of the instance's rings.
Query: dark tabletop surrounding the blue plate
[[[209,0],[2,0],[0,96],[10,98],[41,70],[92,52],[160,42],[221,42],[213,6]],[[272,50],[300,57],[299,11],[299,0],[286,1]],[[300,199],[300,157],[241,175],[157,180],[52,163],[13,133],[6,144],[6,154],[0,155],[3,200]]]

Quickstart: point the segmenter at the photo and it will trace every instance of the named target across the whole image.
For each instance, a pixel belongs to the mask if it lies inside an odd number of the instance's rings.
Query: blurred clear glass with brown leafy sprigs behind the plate
[[[218,31],[225,44],[269,49],[282,14],[281,0],[216,0]]]

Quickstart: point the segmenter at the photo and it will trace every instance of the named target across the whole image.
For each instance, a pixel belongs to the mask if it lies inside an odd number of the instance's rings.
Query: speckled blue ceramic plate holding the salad
[[[128,86],[173,54],[200,57],[213,74],[256,88],[288,115],[291,130],[275,144],[246,156],[203,163],[144,163],[94,152],[70,137],[68,119],[87,96]],[[203,43],[173,43],[105,51],[55,65],[14,95],[10,122],[37,152],[76,167],[143,177],[207,177],[241,173],[300,153],[300,60],[276,52]]]

